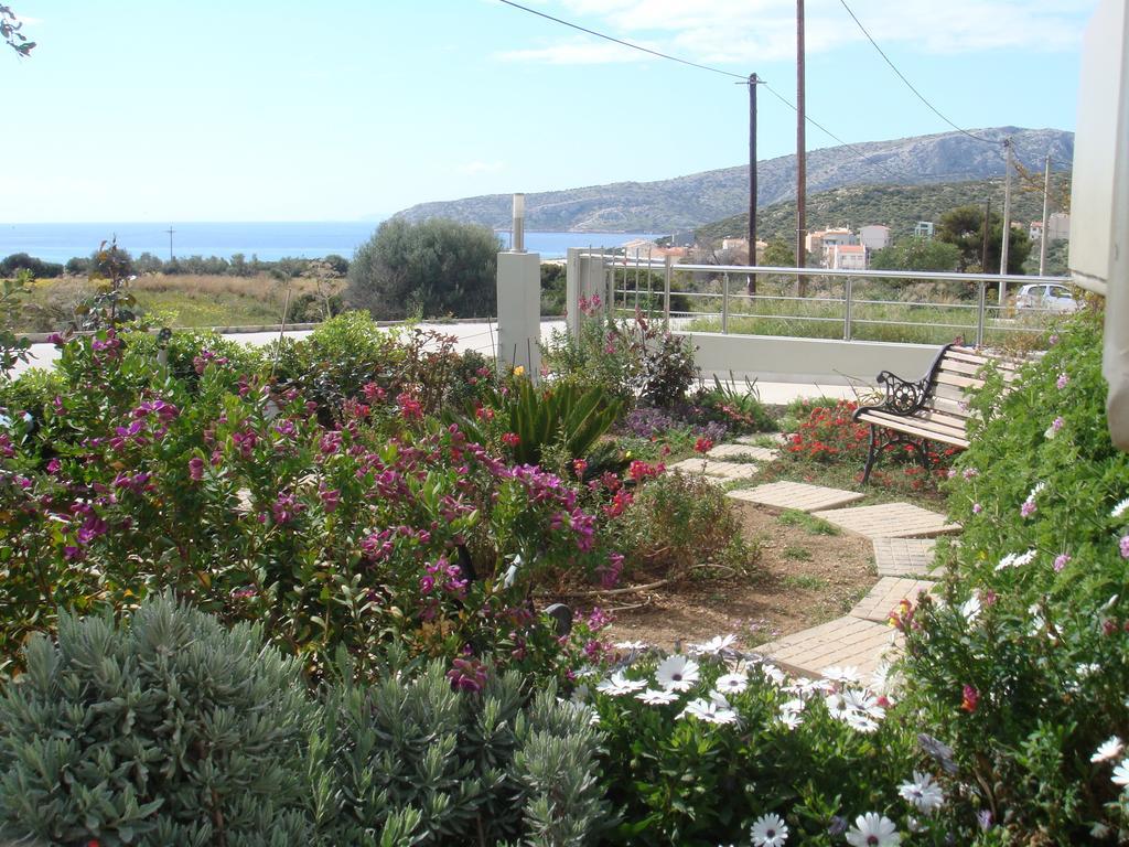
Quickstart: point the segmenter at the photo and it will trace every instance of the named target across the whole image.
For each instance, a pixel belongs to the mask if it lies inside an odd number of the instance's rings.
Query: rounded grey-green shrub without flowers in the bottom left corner
[[[298,663],[169,599],[63,614],[0,695],[0,832],[52,844],[306,844]]]

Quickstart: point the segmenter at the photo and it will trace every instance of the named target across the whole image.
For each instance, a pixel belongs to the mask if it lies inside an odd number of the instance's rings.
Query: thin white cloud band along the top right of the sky
[[[960,54],[1076,49],[1096,0],[850,0],[884,49]],[[546,14],[698,62],[749,67],[796,52],[794,0],[560,0]],[[839,0],[808,0],[809,54],[865,40]],[[546,27],[552,26],[546,23]],[[632,51],[592,36],[514,50],[510,61],[593,64],[631,60]],[[645,53],[633,51],[637,60]]]

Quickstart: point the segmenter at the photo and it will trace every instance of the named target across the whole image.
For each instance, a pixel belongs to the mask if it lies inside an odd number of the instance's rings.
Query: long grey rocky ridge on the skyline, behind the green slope
[[[975,130],[977,134],[1015,142],[1017,159],[1042,169],[1048,152],[1062,164],[1074,158],[1074,133],[1015,126]],[[807,191],[847,185],[920,185],[983,180],[1004,172],[1003,148],[960,132],[918,136],[829,147],[807,154]],[[795,199],[796,157],[761,161],[758,201],[768,207]],[[700,227],[737,215],[749,203],[746,166],[706,171],[658,182],[623,182],[567,191],[526,194],[526,229],[544,232],[668,233]],[[510,195],[488,194],[446,202],[420,203],[396,213],[408,220],[443,217],[509,228]]]

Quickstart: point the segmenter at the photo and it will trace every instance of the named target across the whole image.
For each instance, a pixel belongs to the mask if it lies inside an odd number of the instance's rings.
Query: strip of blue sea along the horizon
[[[283,256],[314,259],[336,253],[352,259],[353,251],[371,237],[375,221],[215,222],[215,224],[0,224],[0,257],[27,253],[45,262],[65,262],[88,256],[103,241],[117,237],[117,246],[137,256],[152,253],[168,259],[173,229],[173,254],[229,259],[243,253],[264,262]],[[509,233],[498,233],[505,246]],[[618,247],[647,233],[526,233],[525,248],[543,259],[559,259],[569,247]]]

